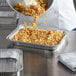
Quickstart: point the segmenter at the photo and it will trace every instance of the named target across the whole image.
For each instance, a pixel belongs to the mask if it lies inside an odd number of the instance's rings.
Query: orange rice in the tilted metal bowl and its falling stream
[[[31,24],[35,29],[37,28],[36,23],[38,21],[39,16],[41,14],[45,13],[47,9],[47,0],[30,0],[30,3],[28,3],[29,0],[23,0],[22,2],[17,3],[14,8],[28,16],[33,16],[34,20]]]

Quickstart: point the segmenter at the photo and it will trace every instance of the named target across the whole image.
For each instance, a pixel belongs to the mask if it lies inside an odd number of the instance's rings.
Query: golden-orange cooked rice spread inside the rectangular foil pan
[[[22,28],[16,35],[14,35],[12,40],[42,45],[56,45],[65,35],[64,33],[59,31],[49,31],[43,29],[40,30],[34,28]]]

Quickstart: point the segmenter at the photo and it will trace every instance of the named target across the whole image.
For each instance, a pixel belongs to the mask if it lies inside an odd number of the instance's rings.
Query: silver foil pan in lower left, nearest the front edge
[[[18,72],[23,69],[23,53],[19,49],[0,49],[0,72]]]

